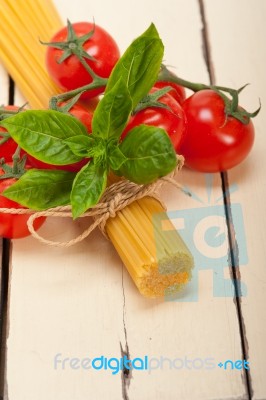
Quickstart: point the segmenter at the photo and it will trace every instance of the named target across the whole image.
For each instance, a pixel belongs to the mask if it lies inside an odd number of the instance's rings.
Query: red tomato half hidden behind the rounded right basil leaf
[[[158,89],[153,88],[151,93],[154,93],[157,90]],[[168,93],[160,97],[158,101],[167,105],[170,109],[148,107],[137,112],[130,118],[128,125],[121,135],[121,139],[123,140],[127,132],[129,132],[135,126],[141,124],[157,126],[164,129],[168,133],[175,151],[179,153],[186,133],[187,121],[185,113],[180,104]]]

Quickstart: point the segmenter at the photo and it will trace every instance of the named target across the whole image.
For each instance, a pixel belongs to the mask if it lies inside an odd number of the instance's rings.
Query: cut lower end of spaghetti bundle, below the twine
[[[191,279],[193,257],[158,200],[135,201],[106,231],[143,296],[170,299]]]

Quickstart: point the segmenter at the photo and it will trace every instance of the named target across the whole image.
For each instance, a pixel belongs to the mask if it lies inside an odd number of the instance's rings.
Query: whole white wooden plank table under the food
[[[191,216],[188,235],[204,219],[203,208],[220,223],[215,217],[219,206],[239,248],[239,254],[230,252],[230,240],[225,239],[217,257],[206,256],[206,269],[195,269],[194,280],[178,301],[142,298],[99,232],[67,250],[48,248],[32,238],[12,243],[4,398],[265,400],[266,1],[55,3],[64,19],[94,17],[122,51],[154,22],[165,44],[165,61],[176,66],[177,74],[235,88],[249,82],[241,104],[253,110],[260,97],[262,111],[254,121],[254,149],[243,164],[222,176],[183,170],[180,182],[196,196],[187,198],[171,187],[162,195],[169,211]],[[1,66],[0,88],[0,102],[6,104],[9,80]],[[14,100],[24,102],[17,91]],[[229,186],[231,194],[226,196]],[[229,202],[226,215],[224,199]],[[243,220],[236,209],[242,210]],[[83,224],[49,220],[42,232],[55,240],[68,239]],[[226,226],[221,229],[226,233]],[[235,277],[242,283],[241,297],[231,295]],[[70,362],[63,369],[56,362],[120,358],[124,353],[131,359],[147,356],[153,369],[112,374],[110,369],[71,368]],[[249,370],[232,369],[230,362],[225,369],[226,360],[246,360]]]

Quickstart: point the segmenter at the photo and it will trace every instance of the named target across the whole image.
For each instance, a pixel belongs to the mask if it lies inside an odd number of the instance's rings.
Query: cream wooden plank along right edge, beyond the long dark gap
[[[241,298],[241,310],[250,361],[252,398],[265,399],[266,119],[263,107],[266,102],[266,3],[263,0],[252,3],[248,0],[207,0],[206,6],[217,82],[236,88],[250,83],[240,101],[248,110],[258,106],[258,98],[262,102],[262,111],[254,119],[256,139],[252,153],[228,175],[230,184],[238,185],[231,202],[241,205],[245,224],[248,262],[240,264],[239,270],[247,287],[247,295]]]

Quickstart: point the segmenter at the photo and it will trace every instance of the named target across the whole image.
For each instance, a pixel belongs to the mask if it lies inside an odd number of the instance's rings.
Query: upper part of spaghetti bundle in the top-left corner
[[[32,108],[46,108],[59,89],[45,68],[45,46],[62,26],[51,0],[0,0],[0,59]]]

